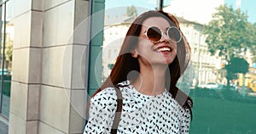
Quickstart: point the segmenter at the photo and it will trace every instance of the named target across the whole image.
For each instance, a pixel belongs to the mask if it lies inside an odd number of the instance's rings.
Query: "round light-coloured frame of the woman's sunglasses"
[[[156,27],[156,28],[158,28],[158,29],[160,30],[160,32],[161,32],[161,38],[160,38],[159,41],[154,42],[154,41],[151,41],[151,40],[148,38],[148,35],[147,35],[148,30],[149,30],[150,28],[152,28],[152,27]],[[172,39],[170,38],[170,36],[169,36],[169,34],[168,34],[168,31],[169,31],[171,28],[175,28],[175,29],[177,29],[177,31],[179,32],[180,38],[179,38],[179,40],[178,40],[177,42],[180,42],[180,41],[182,40],[182,38],[183,38],[183,34],[181,33],[181,31],[179,31],[179,29],[178,29],[176,26],[166,27],[167,31],[162,31],[158,26],[150,26],[150,27],[148,27],[148,29],[143,33],[142,36],[146,36],[146,39],[147,39],[148,41],[150,41],[150,42],[158,43],[158,42],[160,42],[160,41],[162,40],[163,35],[164,35],[165,32],[166,32],[166,35],[167,35],[168,38],[172,41]],[[142,36],[140,36],[140,37],[142,37]],[[172,41],[172,42],[176,42],[176,41]],[[177,42],[176,42],[176,43],[177,43]]]

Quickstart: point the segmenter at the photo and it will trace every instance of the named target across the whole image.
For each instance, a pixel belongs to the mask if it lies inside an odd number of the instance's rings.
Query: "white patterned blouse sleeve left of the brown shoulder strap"
[[[116,109],[116,95],[113,88],[106,88],[90,99],[89,120],[84,134],[110,133]]]

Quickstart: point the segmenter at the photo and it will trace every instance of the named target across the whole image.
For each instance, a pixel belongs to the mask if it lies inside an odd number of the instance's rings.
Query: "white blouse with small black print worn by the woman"
[[[123,109],[117,133],[189,133],[189,109],[183,109],[167,90],[160,95],[143,95],[130,81],[119,83]],[[117,109],[117,95],[113,87],[98,92],[90,99],[87,133],[110,133]]]

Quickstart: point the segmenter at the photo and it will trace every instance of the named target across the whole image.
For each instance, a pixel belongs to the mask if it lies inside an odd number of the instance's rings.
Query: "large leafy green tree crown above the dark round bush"
[[[248,44],[247,14],[240,9],[222,5],[217,8],[218,13],[212,14],[213,20],[206,25],[204,34],[209,52],[226,56],[228,61],[239,53],[245,52]]]

